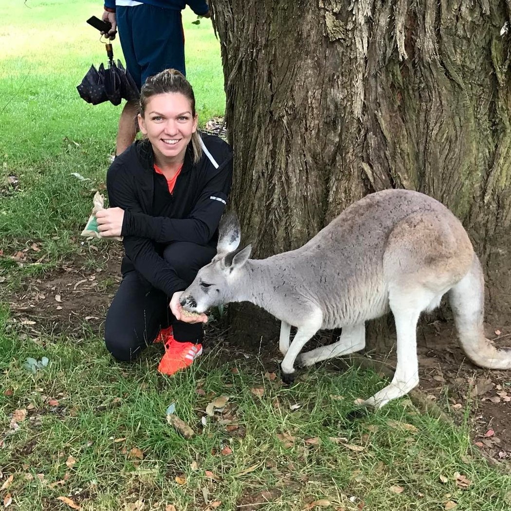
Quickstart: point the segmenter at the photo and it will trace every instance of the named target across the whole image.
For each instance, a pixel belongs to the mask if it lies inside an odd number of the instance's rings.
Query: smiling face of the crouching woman
[[[157,94],[149,99],[138,126],[153,146],[156,163],[182,162],[192,133],[197,129],[190,100],[180,92]]]

